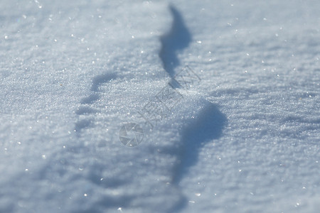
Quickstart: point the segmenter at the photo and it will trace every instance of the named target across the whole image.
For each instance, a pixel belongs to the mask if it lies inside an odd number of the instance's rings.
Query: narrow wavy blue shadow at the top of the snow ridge
[[[180,65],[176,52],[188,47],[191,42],[191,34],[178,10],[174,6],[170,6],[170,11],[174,20],[169,33],[162,35],[160,38],[161,50],[159,57],[164,65],[164,70],[168,72],[170,77],[174,77],[174,68]]]

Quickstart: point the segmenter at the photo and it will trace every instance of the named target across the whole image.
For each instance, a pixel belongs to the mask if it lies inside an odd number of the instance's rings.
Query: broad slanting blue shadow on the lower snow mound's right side
[[[183,150],[181,163],[176,168],[173,182],[178,184],[183,176],[187,175],[189,168],[198,161],[199,149],[207,142],[220,138],[223,128],[227,123],[215,104],[208,103],[196,119],[191,120],[181,131]]]

